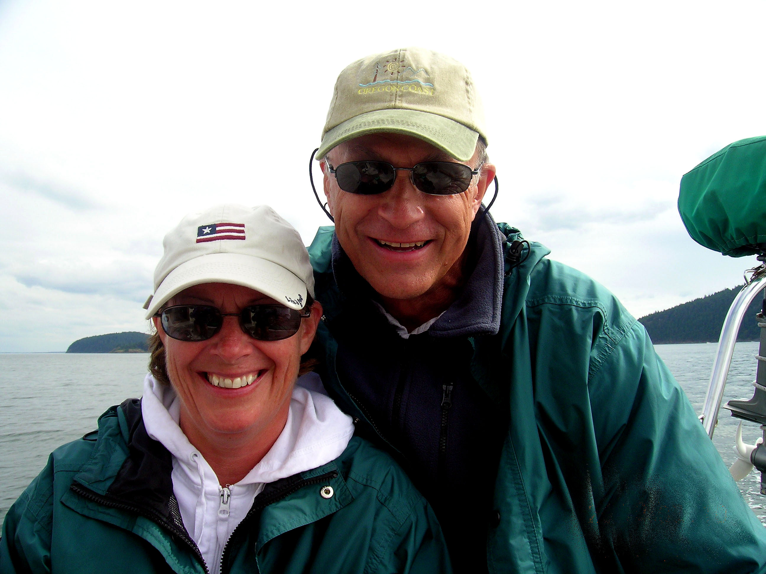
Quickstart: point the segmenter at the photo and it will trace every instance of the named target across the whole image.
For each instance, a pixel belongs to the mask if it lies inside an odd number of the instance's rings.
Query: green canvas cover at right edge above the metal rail
[[[708,249],[732,257],[766,251],[766,135],[727,145],[684,175],[678,210]]]

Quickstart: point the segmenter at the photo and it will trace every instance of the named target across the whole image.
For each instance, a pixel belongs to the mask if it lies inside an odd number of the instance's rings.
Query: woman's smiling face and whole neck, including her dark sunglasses
[[[165,348],[166,377],[181,406],[181,429],[221,484],[237,483],[282,432],[300,357],[314,338],[322,306],[306,305],[302,319],[263,293],[228,283],[194,285],[170,303],[153,319]],[[274,314],[274,308],[286,312]],[[186,325],[206,331],[190,332]],[[280,328],[282,338],[263,338],[256,328]]]

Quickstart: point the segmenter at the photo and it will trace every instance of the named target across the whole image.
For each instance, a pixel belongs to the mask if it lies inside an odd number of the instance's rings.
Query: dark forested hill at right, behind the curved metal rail
[[[717,343],[728,308],[742,287],[737,285],[734,289],[724,289],[665,311],[657,311],[639,321],[647,328],[655,344]],[[755,314],[761,311],[761,305],[763,298],[758,296],[745,312],[737,341],[758,341],[761,338],[761,329],[755,321]]]

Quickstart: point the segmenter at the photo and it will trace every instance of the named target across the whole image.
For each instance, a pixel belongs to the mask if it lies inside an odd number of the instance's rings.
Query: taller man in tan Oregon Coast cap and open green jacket
[[[340,74],[316,155],[322,378],[400,458],[456,572],[762,572],[746,506],[643,327],[494,223],[468,70],[434,52]]]

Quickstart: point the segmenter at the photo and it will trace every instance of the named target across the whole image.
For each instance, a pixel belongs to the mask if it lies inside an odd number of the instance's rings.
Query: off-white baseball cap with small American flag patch
[[[309,253],[296,229],[267,205],[224,204],[189,214],[162,240],[146,318],[191,285],[243,285],[286,307],[314,296]]]

